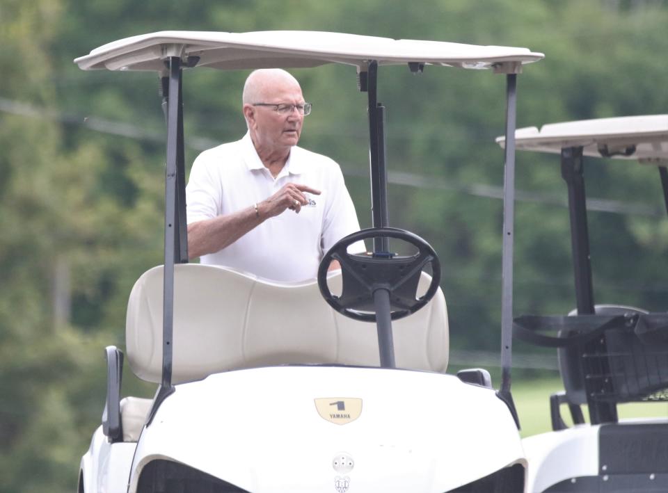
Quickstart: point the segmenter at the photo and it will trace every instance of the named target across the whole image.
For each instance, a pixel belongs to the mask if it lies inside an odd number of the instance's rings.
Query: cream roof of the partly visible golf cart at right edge
[[[496,142],[504,147],[505,138]],[[668,115],[598,118],[517,129],[517,149],[559,154],[564,147],[580,147],[585,156],[668,160]]]

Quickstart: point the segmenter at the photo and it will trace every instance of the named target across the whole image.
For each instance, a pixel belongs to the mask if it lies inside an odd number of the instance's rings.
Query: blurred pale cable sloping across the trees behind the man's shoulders
[[[163,132],[150,131],[136,124],[116,122],[98,117],[82,117],[81,115],[71,115],[51,110],[49,108],[38,108],[32,104],[18,102],[13,99],[0,97],[0,111],[13,115],[20,115],[29,118],[47,118],[48,120],[61,122],[64,124],[78,125],[90,130],[132,138],[134,140],[143,140],[152,143],[164,143],[165,136]],[[200,137],[189,136],[186,140],[186,147],[196,151],[204,151],[220,144],[218,141]],[[344,175],[351,177],[367,177],[365,171],[359,170],[352,165],[342,165]],[[431,188],[441,191],[452,191],[456,193],[465,193],[475,197],[493,198],[502,200],[503,188],[501,186],[486,184],[456,184],[446,180],[443,177],[417,175],[416,173],[392,171],[388,172],[388,182],[395,185],[411,186],[415,188]],[[559,207],[568,207],[565,197],[557,194],[536,193],[531,191],[516,190],[516,200],[519,202],[533,202],[536,204],[548,204]],[[663,217],[662,207],[653,207],[648,204],[638,202],[623,202],[621,200],[606,200],[591,197],[587,199],[587,210],[609,212],[622,215]]]

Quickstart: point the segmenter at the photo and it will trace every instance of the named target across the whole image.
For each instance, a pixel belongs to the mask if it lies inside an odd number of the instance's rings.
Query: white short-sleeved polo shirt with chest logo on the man
[[[339,165],[301,147],[292,147],[276,178],[264,167],[250,134],[202,152],[193,163],[186,205],[188,223],[253,207],[287,183],[305,184],[309,204],[265,220],[223,250],[200,258],[276,281],[313,279],[324,252],[360,229]],[[356,250],[363,250],[355,245]],[[351,251],[353,248],[351,247]]]

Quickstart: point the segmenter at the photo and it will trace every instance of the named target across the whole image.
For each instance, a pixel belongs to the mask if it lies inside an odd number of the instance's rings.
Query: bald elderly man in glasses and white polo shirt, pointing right
[[[186,187],[191,258],[301,281],[314,278],[324,252],[359,229],[339,165],[297,147],[310,110],[285,70],[248,76],[248,133],[193,163]]]

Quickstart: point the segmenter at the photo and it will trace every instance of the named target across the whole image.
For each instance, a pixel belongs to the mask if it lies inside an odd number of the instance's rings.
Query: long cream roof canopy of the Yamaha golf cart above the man
[[[319,31],[221,33],[161,31],[114,41],[74,60],[83,70],[164,70],[167,56],[197,57],[197,66],[221,70],[317,67],[342,63],[365,67],[416,63],[516,73],[543,58],[526,48],[393,40]]]

